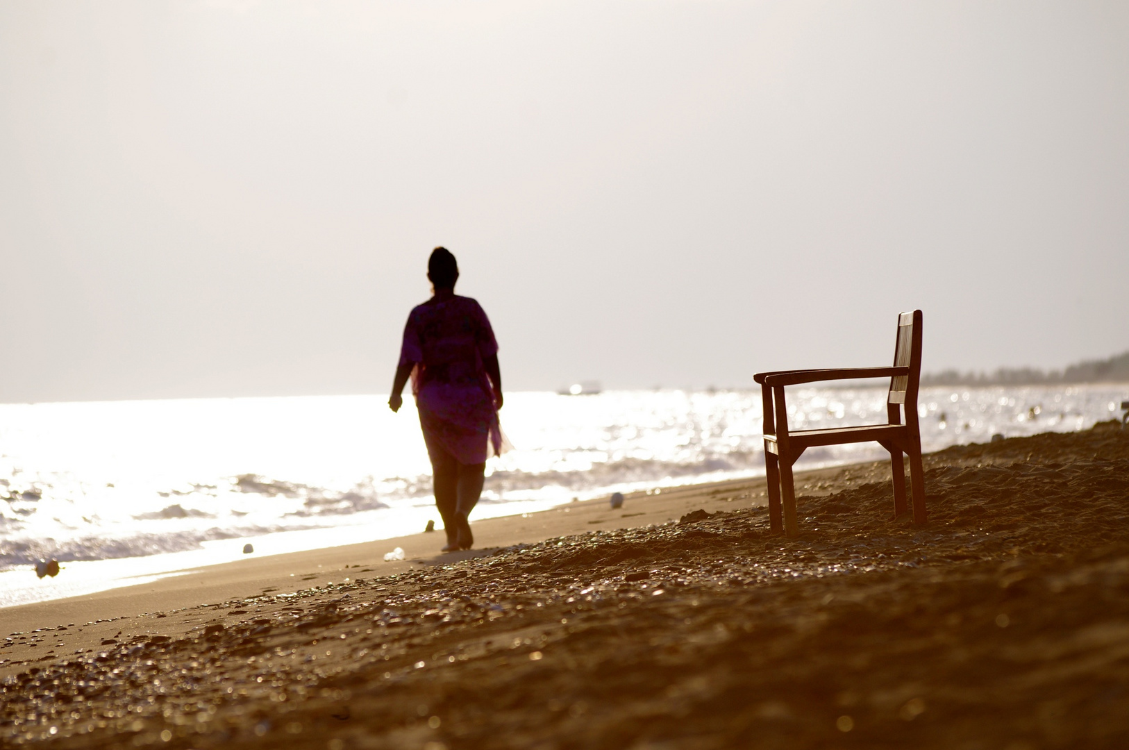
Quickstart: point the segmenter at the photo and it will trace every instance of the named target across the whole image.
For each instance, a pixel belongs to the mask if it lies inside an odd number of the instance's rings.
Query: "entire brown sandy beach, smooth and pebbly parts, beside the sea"
[[[925,526],[860,464],[791,540],[734,482],[0,610],[0,744],[1129,747],[1129,431],[926,469]]]

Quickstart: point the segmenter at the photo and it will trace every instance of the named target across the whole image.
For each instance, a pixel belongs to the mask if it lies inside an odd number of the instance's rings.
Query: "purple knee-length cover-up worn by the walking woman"
[[[417,306],[404,326],[401,365],[414,365],[412,393],[428,454],[443,450],[462,464],[502,450],[490,378],[482,363],[498,342],[478,302],[457,295]]]

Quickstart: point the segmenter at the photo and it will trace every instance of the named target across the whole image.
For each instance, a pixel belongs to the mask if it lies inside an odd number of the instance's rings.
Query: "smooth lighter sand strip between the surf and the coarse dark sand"
[[[833,478],[843,471],[854,471],[858,477],[881,476],[883,471],[889,472],[889,461],[878,461],[804,470],[796,472],[797,491],[805,488],[808,494],[822,494],[830,490]],[[618,511],[612,511],[604,498],[577,500],[534,513],[482,518],[472,522],[475,548],[460,552],[439,552],[437,548],[443,544],[444,535],[441,531],[435,531],[174,570],[140,584],[0,608],[0,630],[3,631],[0,637],[44,628],[67,628],[65,637],[52,644],[50,654],[61,660],[76,651],[97,648],[105,639],[103,636],[114,635],[121,629],[108,623],[150,613],[183,612],[265,593],[280,596],[371,577],[396,576],[488,557],[498,549],[515,544],[536,543],[594,530],[630,530],[663,524],[699,508],[709,512],[728,509],[734,503],[745,507],[767,506],[764,477],[627,492],[623,507]],[[404,550],[405,559],[385,561],[385,552],[397,547]],[[163,625],[168,630],[167,626],[172,623]],[[78,627],[85,627],[81,634],[75,630]],[[62,645],[55,646],[56,643]],[[0,679],[30,664],[28,657],[34,656],[35,662],[51,661],[47,655],[47,652],[32,654],[25,651],[20,654],[19,649],[0,648]]]

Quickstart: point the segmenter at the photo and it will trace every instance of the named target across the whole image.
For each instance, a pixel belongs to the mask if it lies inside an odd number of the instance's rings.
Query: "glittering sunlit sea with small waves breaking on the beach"
[[[926,389],[927,451],[1120,417],[1129,385]],[[0,605],[75,595],[256,553],[422,530],[430,466],[415,410],[387,396],[0,405]],[[885,389],[791,389],[794,429],[882,421]],[[475,517],[614,490],[763,473],[759,391],[511,393],[515,450]],[[800,465],[881,457],[809,451]],[[59,559],[37,579],[38,559]]]

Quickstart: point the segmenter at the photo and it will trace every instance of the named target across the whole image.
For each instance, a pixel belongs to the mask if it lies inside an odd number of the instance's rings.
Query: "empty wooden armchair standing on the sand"
[[[910,485],[913,498],[913,523],[926,522],[925,477],[921,469],[921,434],[918,428],[917,396],[921,376],[921,311],[898,316],[898,341],[894,346],[893,367],[864,367],[855,369],[790,369],[758,373],[753,380],[761,384],[764,401],[764,469],[769,485],[769,518],[772,531],[799,533],[796,521],[796,489],[791,465],[805,450],[816,445],[844,443],[879,443],[890,451],[894,474],[894,515],[905,506],[905,469],[902,453],[910,459]],[[788,408],[785,386],[826,381],[857,381],[869,377],[889,377],[886,395],[887,422],[863,427],[833,427],[830,429],[788,429]],[[905,418],[902,419],[904,408]],[[781,503],[782,500],[782,503]],[[781,504],[784,523],[781,525]]]

